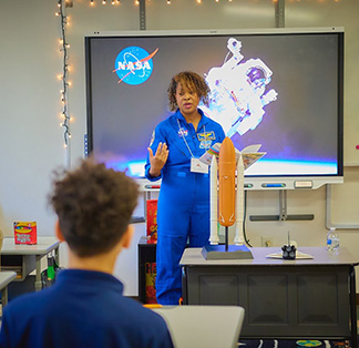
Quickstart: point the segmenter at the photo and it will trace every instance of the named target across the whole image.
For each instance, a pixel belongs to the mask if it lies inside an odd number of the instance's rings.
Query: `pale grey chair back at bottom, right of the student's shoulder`
[[[152,308],[168,327],[175,348],[237,347],[245,310],[237,306]]]

